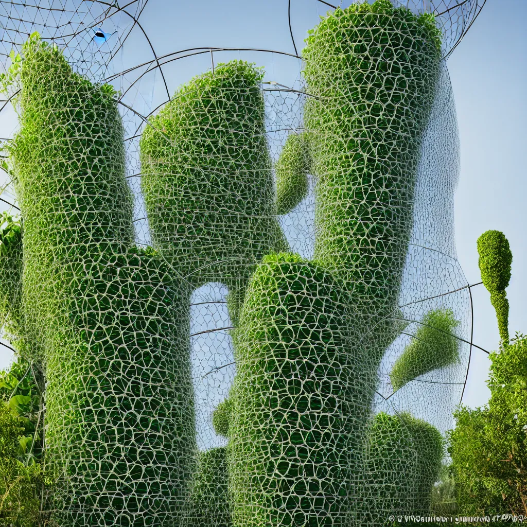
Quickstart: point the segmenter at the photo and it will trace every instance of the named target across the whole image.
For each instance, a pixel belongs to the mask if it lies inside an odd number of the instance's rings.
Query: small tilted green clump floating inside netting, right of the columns
[[[450,309],[440,308],[425,314],[411,343],[392,368],[390,379],[394,390],[459,359],[459,343],[454,333],[459,324]]]

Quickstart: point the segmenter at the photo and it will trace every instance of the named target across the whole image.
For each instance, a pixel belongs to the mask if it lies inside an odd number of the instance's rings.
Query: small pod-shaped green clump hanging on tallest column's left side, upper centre
[[[290,133],[275,163],[278,214],[291,212],[307,196],[311,170],[308,134]]]

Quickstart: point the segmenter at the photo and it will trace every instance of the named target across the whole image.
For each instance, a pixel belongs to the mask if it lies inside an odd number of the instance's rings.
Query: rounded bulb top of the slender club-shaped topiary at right
[[[477,239],[481,280],[490,292],[503,291],[511,279],[512,252],[503,232],[489,230]]]

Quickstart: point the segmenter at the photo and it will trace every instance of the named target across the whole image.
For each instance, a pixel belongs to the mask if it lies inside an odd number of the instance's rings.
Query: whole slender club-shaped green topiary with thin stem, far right
[[[512,253],[503,232],[486,231],[477,239],[481,280],[491,294],[500,338],[509,341],[509,300],[505,288],[511,279]]]

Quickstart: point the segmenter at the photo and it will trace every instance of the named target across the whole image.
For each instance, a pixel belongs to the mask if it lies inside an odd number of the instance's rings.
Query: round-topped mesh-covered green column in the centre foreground
[[[333,276],[267,256],[235,331],[229,477],[233,523],[345,525],[375,386]]]

